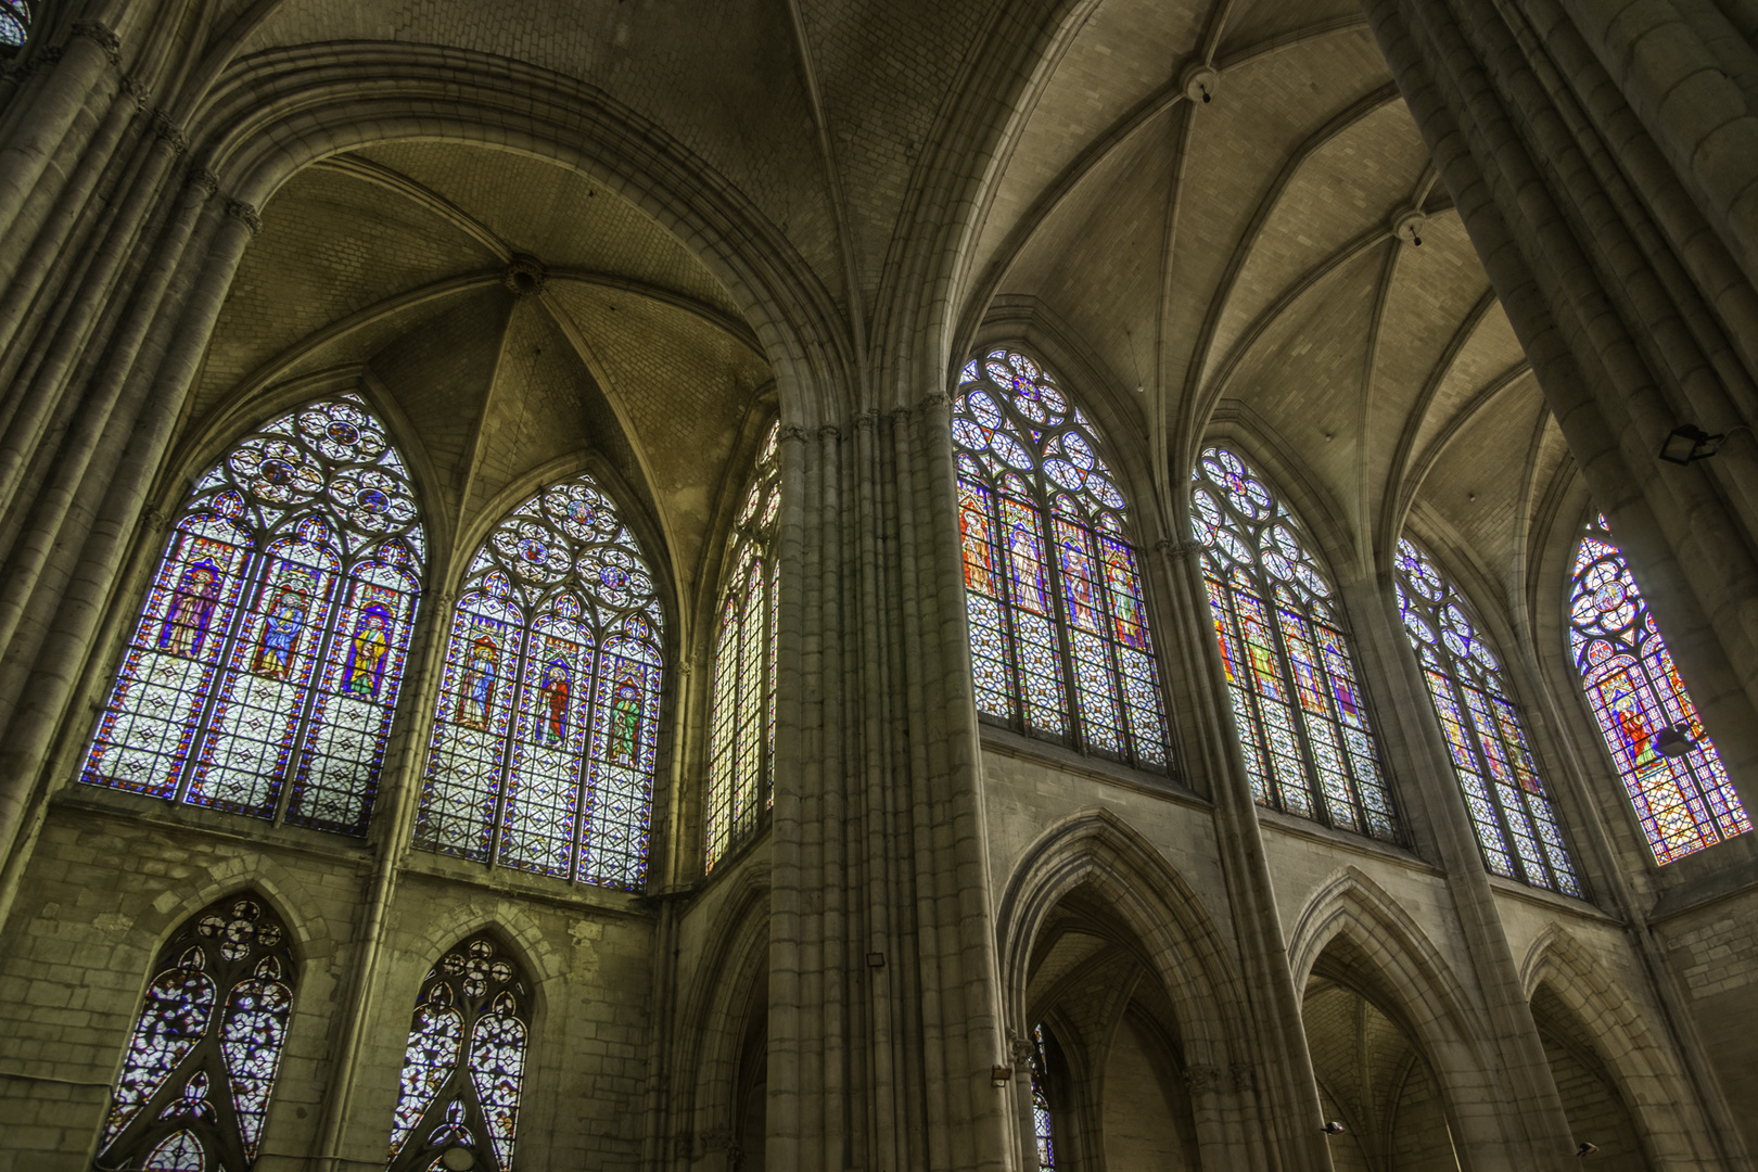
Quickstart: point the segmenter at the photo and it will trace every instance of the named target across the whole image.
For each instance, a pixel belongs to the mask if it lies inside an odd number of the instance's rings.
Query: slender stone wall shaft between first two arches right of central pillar
[[[1252,778],[1239,749],[1236,719],[1227,698],[1220,647],[1215,643],[1208,590],[1202,582],[1202,546],[1194,541],[1162,541],[1171,583],[1169,631],[1180,647],[1178,666],[1185,682],[1185,699],[1192,705],[1188,722],[1194,736],[1185,743],[1199,747],[1202,770],[1215,803],[1215,838],[1227,882],[1229,910],[1245,968],[1241,1002],[1250,1007],[1250,1035],[1241,1045],[1253,1051],[1255,1070],[1234,1093],[1239,1103],[1227,1140],[1250,1151],[1248,1167],[1275,1167],[1280,1160],[1290,1172],[1327,1170],[1329,1151],[1318,1125],[1322,1107],[1318,1084],[1311,1075],[1311,1056],[1301,1024],[1301,991],[1294,986],[1282,917],[1276,908],[1275,880],[1264,852],[1264,831],[1257,821]],[[1222,1031],[1231,1023],[1215,1023]],[[1190,1056],[1187,1054],[1187,1061]],[[1188,1075],[1187,1067],[1187,1075]],[[1213,1081],[1204,1082],[1208,1086]],[[1213,1095],[1215,1086],[1206,1091]],[[1246,1096],[1246,1091],[1255,1091]],[[1199,1089],[1192,1082],[1192,1107]]]

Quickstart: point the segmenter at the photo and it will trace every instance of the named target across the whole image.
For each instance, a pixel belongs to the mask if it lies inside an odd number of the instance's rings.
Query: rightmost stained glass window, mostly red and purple
[[[1570,648],[1654,861],[1672,863],[1749,831],[1751,817],[1603,517],[1575,552]],[[1668,727],[1691,738],[1689,752],[1660,752],[1654,738]]]

